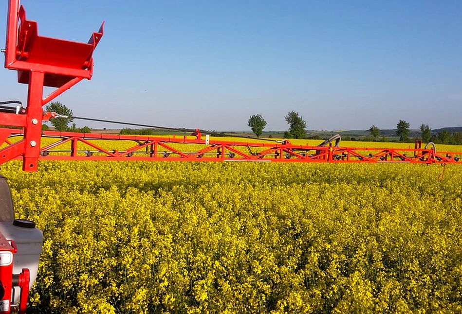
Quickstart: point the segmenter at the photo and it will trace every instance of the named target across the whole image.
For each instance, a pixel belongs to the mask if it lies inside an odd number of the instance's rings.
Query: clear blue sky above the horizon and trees
[[[296,110],[317,130],[462,125],[460,0],[21,4],[40,35],[86,42],[106,20],[92,81],[58,98],[78,116],[248,130],[260,113],[285,130]],[[0,81],[1,100],[26,100],[15,72]]]

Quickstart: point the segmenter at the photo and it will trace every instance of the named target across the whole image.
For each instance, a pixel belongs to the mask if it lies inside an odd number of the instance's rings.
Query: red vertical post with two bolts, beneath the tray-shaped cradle
[[[27,121],[24,128],[24,158],[22,170],[37,171],[42,132],[43,72],[31,71],[27,95]]]

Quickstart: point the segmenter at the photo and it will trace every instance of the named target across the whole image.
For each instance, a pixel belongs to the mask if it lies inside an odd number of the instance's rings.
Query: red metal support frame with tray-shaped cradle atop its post
[[[88,43],[38,35],[37,22],[28,20],[19,0],[8,2],[5,68],[18,71],[18,82],[28,84],[24,114],[0,112],[0,124],[22,126],[24,139],[0,150],[0,163],[19,156],[24,171],[37,171],[43,118],[42,106],[93,75],[93,51],[103,36],[104,22]],[[43,87],[56,90],[43,97]]]

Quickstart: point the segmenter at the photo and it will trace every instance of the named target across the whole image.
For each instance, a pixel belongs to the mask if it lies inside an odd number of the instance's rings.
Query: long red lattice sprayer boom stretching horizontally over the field
[[[22,137],[18,129],[0,129],[0,144],[14,146],[10,141]],[[319,147],[281,143],[258,143],[224,140],[203,140],[186,136],[153,137],[110,134],[85,134],[44,131],[42,138],[52,141],[38,148],[43,160],[136,160],[136,161],[266,161],[266,162],[330,162],[330,163],[459,163],[462,152],[435,152],[433,148],[366,148]],[[101,145],[101,140],[107,140]],[[21,140],[20,140],[21,141]],[[108,144],[125,142],[123,151],[108,148]],[[130,145],[129,142],[132,142]],[[68,143],[71,143],[68,147]],[[187,149],[185,145],[189,144]],[[67,145],[67,146],[66,146]],[[10,147],[9,146],[9,147]],[[1,150],[0,150],[1,152]],[[0,159],[0,164],[4,161]]]

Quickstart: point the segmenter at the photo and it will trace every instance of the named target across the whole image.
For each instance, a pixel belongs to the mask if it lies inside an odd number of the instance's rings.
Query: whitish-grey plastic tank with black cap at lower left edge
[[[43,233],[35,223],[17,219],[12,222],[0,222],[0,232],[7,240],[13,240],[18,246],[18,252],[13,257],[13,274],[20,274],[23,268],[30,271],[29,289],[37,278],[38,260],[42,253]],[[12,302],[18,304],[20,289],[13,289]]]

